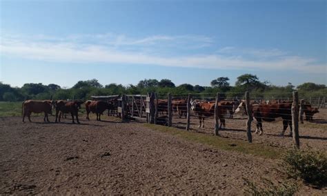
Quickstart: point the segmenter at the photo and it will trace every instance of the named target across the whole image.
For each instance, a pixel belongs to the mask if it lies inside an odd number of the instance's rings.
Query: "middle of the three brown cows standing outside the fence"
[[[72,123],[75,124],[74,116],[76,116],[76,121],[79,124],[79,108],[81,108],[82,101],[65,101],[57,100],[55,101],[56,107],[56,123],[61,120],[61,113],[70,113],[72,115]],[[59,118],[58,118],[59,116]]]

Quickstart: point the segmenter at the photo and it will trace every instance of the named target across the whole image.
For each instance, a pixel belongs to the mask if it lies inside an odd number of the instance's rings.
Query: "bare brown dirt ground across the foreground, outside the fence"
[[[83,118],[81,124],[65,119],[54,124],[32,117],[34,122],[23,124],[20,117],[0,118],[0,194],[240,195],[244,177],[253,182],[259,182],[260,177],[280,180],[274,169],[277,163],[271,159],[212,150],[150,130],[140,122],[94,119]],[[319,142],[317,146],[326,149],[326,133],[319,130],[310,130],[320,134],[312,137],[324,137],[325,141],[308,142]],[[266,133],[271,133],[268,128]],[[309,133],[306,135],[313,135]],[[226,130],[221,135],[244,139],[245,132]],[[291,140],[275,135],[260,138],[282,139],[271,142],[285,141],[286,147]],[[257,136],[254,141],[259,141]],[[301,142],[305,143],[304,139]],[[306,186],[299,193],[324,194]]]

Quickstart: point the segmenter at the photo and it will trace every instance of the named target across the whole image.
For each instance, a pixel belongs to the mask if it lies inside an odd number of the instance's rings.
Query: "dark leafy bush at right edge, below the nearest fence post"
[[[286,164],[286,173],[290,177],[299,177],[314,186],[326,186],[326,152],[290,150],[282,159]]]

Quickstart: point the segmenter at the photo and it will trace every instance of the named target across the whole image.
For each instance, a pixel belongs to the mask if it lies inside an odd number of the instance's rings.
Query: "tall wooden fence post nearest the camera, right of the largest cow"
[[[299,95],[293,92],[292,104],[293,148],[299,149]]]

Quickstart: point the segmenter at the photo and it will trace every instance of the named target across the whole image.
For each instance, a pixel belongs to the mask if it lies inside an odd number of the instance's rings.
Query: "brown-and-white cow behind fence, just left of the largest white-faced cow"
[[[191,110],[197,113],[199,117],[199,128],[204,128],[204,119],[205,117],[213,117],[215,116],[215,103],[210,102],[199,102],[199,101],[190,101],[191,104]],[[218,106],[220,106],[218,104]],[[226,113],[226,110],[224,107],[218,107],[218,113],[219,113],[219,119],[220,119],[220,128],[226,128],[224,114]]]

